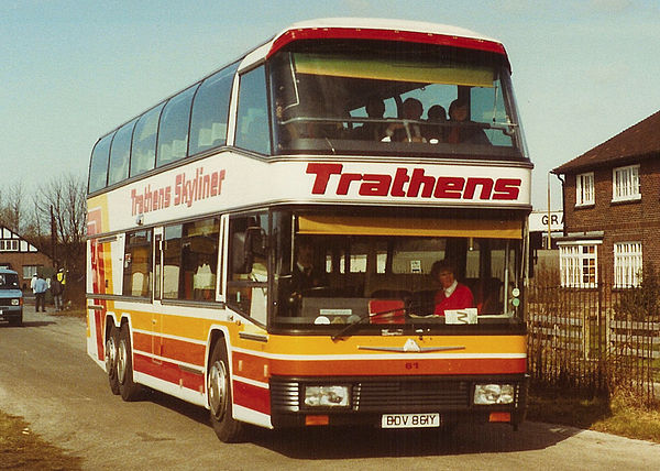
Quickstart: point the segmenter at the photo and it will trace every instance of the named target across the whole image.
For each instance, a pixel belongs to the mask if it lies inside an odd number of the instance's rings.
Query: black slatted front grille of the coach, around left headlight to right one
[[[323,384],[323,381],[271,380],[273,410],[299,412],[306,384]],[[332,384],[352,386],[354,412],[424,412],[463,409],[470,406],[469,381],[447,379],[383,379],[351,381],[334,379]],[[329,383],[328,383],[329,384]]]

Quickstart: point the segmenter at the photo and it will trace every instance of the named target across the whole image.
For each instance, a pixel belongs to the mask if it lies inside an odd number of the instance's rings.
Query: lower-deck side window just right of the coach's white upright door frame
[[[213,300],[218,274],[218,218],[165,228],[163,297]]]

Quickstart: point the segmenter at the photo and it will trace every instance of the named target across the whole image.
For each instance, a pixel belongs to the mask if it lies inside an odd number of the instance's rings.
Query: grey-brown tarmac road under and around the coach
[[[124,403],[85,351],[85,321],[32,313],[0,325],[0,409],[21,415],[85,469],[650,470],[660,445],[549,424],[459,427],[452,436],[374,429],[254,430],[220,442],[207,410],[160,393]],[[0,457],[0,468],[1,464]]]

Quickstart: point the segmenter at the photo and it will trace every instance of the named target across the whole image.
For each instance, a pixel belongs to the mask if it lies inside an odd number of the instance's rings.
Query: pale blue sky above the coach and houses
[[[87,174],[99,136],[315,18],[452,24],[503,42],[535,164],[549,172],[660,109],[657,0],[0,0],[0,177],[28,193]],[[2,188],[0,187],[0,191]]]

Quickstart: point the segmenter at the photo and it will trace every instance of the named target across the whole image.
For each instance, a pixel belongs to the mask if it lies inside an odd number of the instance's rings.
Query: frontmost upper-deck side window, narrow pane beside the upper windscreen
[[[262,66],[241,76],[237,146],[270,155],[271,133],[268,129],[266,76]]]

